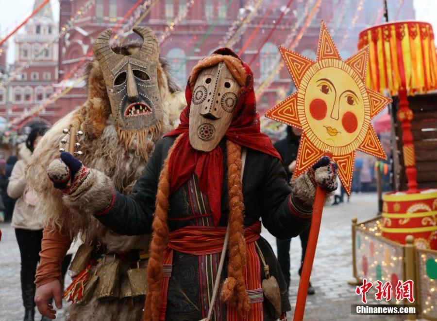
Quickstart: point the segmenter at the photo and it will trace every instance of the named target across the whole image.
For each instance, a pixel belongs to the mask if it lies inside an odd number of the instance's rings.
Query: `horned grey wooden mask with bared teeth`
[[[143,43],[133,54],[117,54],[110,48],[110,29],[103,31],[93,46],[112,114],[121,130],[139,130],[162,119],[157,83],[158,40],[148,27],[134,28],[134,32],[142,37]]]

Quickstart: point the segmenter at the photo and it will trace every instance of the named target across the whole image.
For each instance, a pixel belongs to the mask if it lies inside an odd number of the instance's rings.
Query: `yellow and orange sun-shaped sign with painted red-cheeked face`
[[[266,117],[303,129],[293,176],[329,150],[350,194],[356,150],[387,158],[370,120],[391,99],[365,86],[369,48],[342,61],[321,21],[316,61],[282,46],[279,50],[298,90],[269,109]]]

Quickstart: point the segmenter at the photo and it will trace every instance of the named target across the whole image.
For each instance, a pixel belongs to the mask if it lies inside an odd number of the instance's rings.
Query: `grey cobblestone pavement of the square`
[[[358,221],[369,219],[376,214],[375,194],[353,195],[349,203],[326,206],[322,223],[316,258],[313,265],[311,283],[316,294],[308,296],[305,309],[305,321],[319,320],[403,320],[394,317],[352,316],[351,304],[359,304],[360,299],[354,293],[355,287],[347,284],[352,276],[351,219]],[[0,321],[22,320],[20,291],[20,258],[14,229],[9,224],[0,224],[3,236],[0,242]],[[275,238],[263,230],[263,236],[276,251]],[[291,242],[291,286],[290,301],[296,303],[299,275],[297,270],[301,258],[299,237]],[[68,284],[69,280],[66,280]],[[64,306],[67,303],[64,302]],[[58,312],[58,315],[62,313]],[[36,313],[35,320],[40,320]],[[288,320],[292,320],[292,314]],[[62,318],[57,318],[62,320]]]

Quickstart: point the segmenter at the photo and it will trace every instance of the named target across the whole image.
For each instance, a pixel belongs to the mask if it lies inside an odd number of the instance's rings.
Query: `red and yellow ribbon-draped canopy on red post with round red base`
[[[437,88],[437,55],[431,24],[399,21],[373,26],[359,35],[358,48],[369,46],[366,85],[399,97],[398,124],[402,127],[402,154],[407,191],[383,196],[383,236],[405,243],[411,234],[420,248],[437,250],[437,191],[419,189],[416,152],[408,96]],[[393,142],[395,143],[395,142]],[[436,186],[437,187],[437,186]]]

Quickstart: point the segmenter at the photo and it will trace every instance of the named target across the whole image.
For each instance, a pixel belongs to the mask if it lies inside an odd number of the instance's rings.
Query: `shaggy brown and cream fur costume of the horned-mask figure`
[[[137,44],[129,44],[114,51],[132,54],[139,50],[139,47]],[[55,189],[47,178],[46,168],[52,160],[59,158],[60,141],[65,138],[63,129],[74,125],[84,132],[84,135],[78,139],[78,143],[81,144],[80,150],[83,152],[83,155],[78,158],[84,164],[98,170],[97,173],[105,174],[100,180],[101,187],[109,186],[110,190],[115,187],[120,193],[131,193],[134,182],[143,172],[155,143],[164,133],[177,125],[180,110],[186,105],[184,93],[179,92],[169,76],[167,65],[161,59],[157,64],[156,74],[159,98],[162,102],[161,119],[153,126],[127,131],[120,129],[114,121],[107,86],[99,62],[96,59],[90,63],[87,71],[88,98],[86,102],[50,129],[35,149],[27,169],[30,184],[39,197],[44,199],[43,202],[39,202],[37,211],[45,213],[47,230],[63,234],[70,240],[80,236],[84,244],[92,244],[94,250],[100,250],[103,256],[108,252],[117,253],[114,257],[119,253],[132,254],[133,250],[137,255],[138,250],[148,250],[149,235],[122,236],[111,232],[92,215],[83,213],[92,211],[91,208],[78,207],[77,203],[68,202],[68,199],[63,198],[62,192]],[[110,178],[110,181],[105,182],[106,178]],[[106,190],[103,188],[102,191]],[[106,202],[108,195],[100,193],[97,197]],[[129,260],[123,260],[123,254],[119,256],[121,258],[119,275],[123,275],[133,266]],[[90,273],[99,271],[102,265],[103,261],[100,256],[97,264],[91,267]],[[41,274],[38,270],[37,285],[48,283],[51,280],[45,278],[44,273]],[[66,311],[67,320],[139,320],[143,302],[141,298],[98,300],[93,296],[86,304],[69,306]]]

